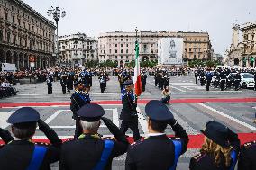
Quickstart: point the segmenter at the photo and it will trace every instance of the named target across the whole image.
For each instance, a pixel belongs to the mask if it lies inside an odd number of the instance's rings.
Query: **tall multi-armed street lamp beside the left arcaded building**
[[[56,26],[57,26],[57,54],[56,54],[56,59],[59,61],[59,37],[58,37],[58,22],[59,22],[59,19],[60,17],[63,18],[66,16],[66,12],[65,11],[62,11],[59,9],[59,7],[56,7],[54,9],[54,7],[50,6],[49,10],[47,11],[47,15],[50,16],[52,15],[53,16],[53,19],[55,20],[56,22]]]

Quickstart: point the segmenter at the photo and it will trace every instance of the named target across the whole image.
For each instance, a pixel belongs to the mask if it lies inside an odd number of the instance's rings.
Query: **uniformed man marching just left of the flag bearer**
[[[74,86],[75,86],[75,92],[70,97],[71,99],[70,110],[73,112],[72,118],[76,121],[76,130],[75,130],[74,138],[78,139],[79,135],[82,134],[82,129],[81,129],[81,126],[79,125],[80,120],[77,112],[83,105],[90,103],[90,99],[83,94],[82,91],[84,89],[84,85],[81,82],[76,82]]]

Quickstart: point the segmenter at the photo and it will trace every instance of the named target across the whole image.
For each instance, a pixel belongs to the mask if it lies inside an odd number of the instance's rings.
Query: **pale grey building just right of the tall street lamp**
[[[69,66],[97,60],[97,41],[84,33],[60,36],[59,58],[62,65]]]

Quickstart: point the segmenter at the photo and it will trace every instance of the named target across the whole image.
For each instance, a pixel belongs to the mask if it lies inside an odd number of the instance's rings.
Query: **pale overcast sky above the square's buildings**
[[[230,46],[234,23],[256,21],[255,0],[23,0],[47,16],[63,8],[59,35],[106,31],[208,31],[216,53]]]

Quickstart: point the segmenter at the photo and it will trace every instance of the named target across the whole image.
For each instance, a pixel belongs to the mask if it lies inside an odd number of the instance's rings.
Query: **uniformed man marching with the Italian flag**
[[[140,139],[140,132],[138,128],[138,115],[137,115],[137,97],[133,94],[133,80],[127,80],[123,84],[125,91],[122,95],[123,108],[120,114],[122,120],[120,130],[123,134],[130,128],[133,131],[133,139]]]

